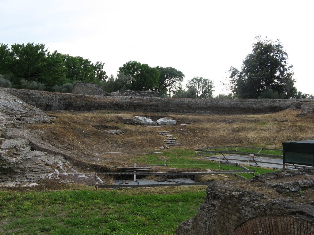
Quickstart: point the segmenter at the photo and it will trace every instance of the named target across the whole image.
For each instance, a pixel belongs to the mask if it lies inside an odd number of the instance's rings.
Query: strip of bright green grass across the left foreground
[[[172,189],[0,191],[0,234],[173,234],[195,215],[205,188]]]

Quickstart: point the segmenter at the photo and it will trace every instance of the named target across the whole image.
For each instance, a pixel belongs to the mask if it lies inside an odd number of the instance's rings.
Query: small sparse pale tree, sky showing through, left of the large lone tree
[[[195,88],[197,98],[213,98],[213,82],[207,78],[193,77],[191,80],[187,81],[186,87]]]

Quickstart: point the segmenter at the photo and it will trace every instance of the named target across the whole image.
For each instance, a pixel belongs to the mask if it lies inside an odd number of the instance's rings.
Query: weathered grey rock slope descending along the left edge
[[[95,175],[78,174],[69,155],[44,143],[24,124],[50,122],[45,112],[0,89],[0,187],[37,186],[41,180],[95,184]],[[102,183],[100,178],[96,180]]]

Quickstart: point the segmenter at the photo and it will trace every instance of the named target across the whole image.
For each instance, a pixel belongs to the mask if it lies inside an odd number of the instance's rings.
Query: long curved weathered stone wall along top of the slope
[[[91,111],[97,109],[148,112],[242,114],[277,112],[309,100],[181,99],[159,97],[109,97],[2,88],[41,110]]]

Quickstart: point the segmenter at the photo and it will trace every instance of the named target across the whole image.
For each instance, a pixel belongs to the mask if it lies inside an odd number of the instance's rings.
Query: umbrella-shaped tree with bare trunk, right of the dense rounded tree
[[[156,67],[160,72],[159,84],[157,91],[162,92],[169,92],[169,97],[171,96],[171,92],[175,91],[178,86],[181,85],[183,82],[184,74],[176,70],[175,68],[171,67]]]

